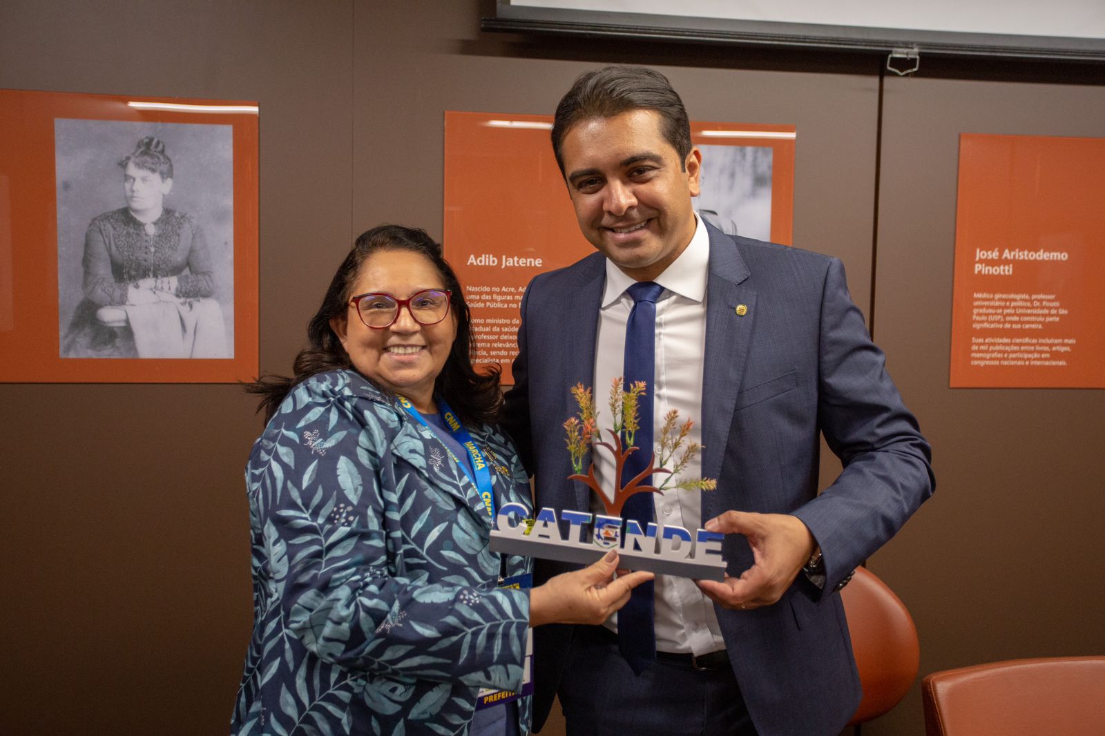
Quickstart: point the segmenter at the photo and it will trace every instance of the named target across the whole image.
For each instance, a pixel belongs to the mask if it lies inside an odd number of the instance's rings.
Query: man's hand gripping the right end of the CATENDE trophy
[[[789,514],[730,511],[706,522],[706,529],[748,538],[755,562],[739,578],[695,581],[718,606],[743,611],[782,598],[817,546],[801,519]]]

